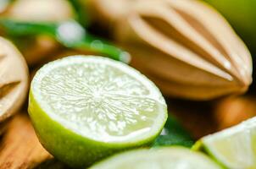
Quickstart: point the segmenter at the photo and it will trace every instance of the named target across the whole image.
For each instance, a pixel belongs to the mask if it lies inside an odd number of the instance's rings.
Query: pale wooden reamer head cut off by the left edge
[[[0,37],[0,122],[17,112],[25,101],[28,77],[24,57]]]

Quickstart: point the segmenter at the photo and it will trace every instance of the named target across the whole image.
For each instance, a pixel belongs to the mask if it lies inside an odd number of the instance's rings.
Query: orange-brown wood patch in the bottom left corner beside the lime
[[[0,168],[23,169],[53,157],[42,148],[26,113],[14,116],[0,144]]]

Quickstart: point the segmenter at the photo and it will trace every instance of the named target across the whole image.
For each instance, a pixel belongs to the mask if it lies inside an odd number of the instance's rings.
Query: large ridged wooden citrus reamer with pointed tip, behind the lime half
[[[96,0],[94,8],[103,6]],[[125,4],[125,3],[123,3]],[[116,7],[115,7],[116,8]],[[120,5],[119,8],[125,8]],[[129,10],[104,15],[114,38],[131,52],[134,66],[164,95],[210,100],[239,94],[252,82],[248,48],[226,20],[195,0],[134,0]]]

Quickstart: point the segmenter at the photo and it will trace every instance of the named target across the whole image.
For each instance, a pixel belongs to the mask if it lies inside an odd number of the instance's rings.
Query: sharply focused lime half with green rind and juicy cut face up
[[[167,106],[134,68],[103,57],[47,63],[31,82],[29,112],[42,145],[70,166],[153,142]]]

